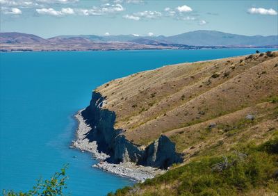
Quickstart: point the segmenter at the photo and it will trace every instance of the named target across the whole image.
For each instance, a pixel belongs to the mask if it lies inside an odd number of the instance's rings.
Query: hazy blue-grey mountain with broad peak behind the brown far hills
[[[61,37],[61,36],[59,36]],[[63,37],[80,37],[87,38],[98,42],[163,42],[167,44],[184,44],[190,46],[225,46],[225,47],[259,47],[259,46],[273,46],[278,45],[278,35],[270,36],[247,36],[237,35],[231,33],[223,33],[220,31],[191,31],[172,36],[135,36],[135,35],[63,35]],[[151,41],[152,40],[152,41]]]

